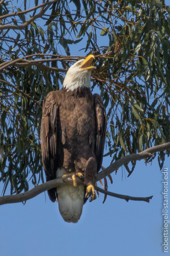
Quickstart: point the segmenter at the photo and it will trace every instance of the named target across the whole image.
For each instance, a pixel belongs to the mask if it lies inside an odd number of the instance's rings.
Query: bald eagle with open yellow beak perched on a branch
[[[59,203],[63,219],[76,223],[88,197],[96,199],[94,178],[99,172],[106,139],[106,111],[98,94],[90,90],[94,55],[79,60],[67,71],[63,88],[43,102],[41,150],[46,180],[71,176],[72,185],[48,190]],[[76,176],[84,184],[76,183]],[[75,188],[76,187],[76,188]]]

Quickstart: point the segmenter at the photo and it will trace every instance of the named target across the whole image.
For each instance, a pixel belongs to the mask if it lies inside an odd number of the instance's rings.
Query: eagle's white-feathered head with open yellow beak
[[[74,63],[67,71],[63,81],[63,87],[73,91],[78,87],[90,88],[91,70],[94,66],[90,66],[94,55],[89,55],[86,59],[82,59]]]

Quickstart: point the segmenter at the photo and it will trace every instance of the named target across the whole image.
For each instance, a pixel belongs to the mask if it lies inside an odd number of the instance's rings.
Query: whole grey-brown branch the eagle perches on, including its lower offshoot
[[[142,151],[138,154],[131,154],[131,155],[124,156],[123,158],[115,161],[112,165],[107,167],[104,171],[98,173],[95,177],[95,182],[104,178],[104,177],[106,177],[106,176],[108,176],[110,173],[114,172],[120,166],[124,165],[127,162],[141,160],[141,159],[144,159],[146,157],[152,156],[152,154],[155,153],[155,152],[164,151],[164,150],[169,149],[169,148],[170,148],[170,142],[148,148],[148,149],[146,149],[146,150],[144,150],[144,151]],[[76,181],[77,181],[77,184],[83,184],[84,183],[79,177],[76,177]],[[63,181],[62,178],[53,179],[53,180],[47,181],[46,183],[38,185],[37,187],[32,188],[31,190],[29,190],[27,192],[24,192],[24,193],[21,193],[21,194],[16,194],[16,195],[11,195],[11,196],[2,196],[2,197],[0,197],[0,205],[11,204],[11,203],[19,203],[19,202],[29,200],[29,199],[37,196],[38,194],[44,192],[45,190],[49,190],[49,189],[54,188],[54,187],[62,186],[65,183],[72,184],[73,181],[69,177],[66,178],[65,181]],[[105,191],[104,193],[106,194],[106,193],[111,193],[111,192],[106,192]],[[118,194],[112,193],[112,195],[113,194],[117,195],[116,197],[119,197]],[[120,198],[125,199],[126,201],[127,200],[136,200],[136,199],[132,199],[132,198],[135,198],[135,197],[129,197],[129,196],[123,196],[123,195]],[[143,199],[144,198],[142,198],[140,200],[148,202],[147,199],[149,200],[149,199],[151,199],[151,197],[148,197],[146,200],[143,200]]]

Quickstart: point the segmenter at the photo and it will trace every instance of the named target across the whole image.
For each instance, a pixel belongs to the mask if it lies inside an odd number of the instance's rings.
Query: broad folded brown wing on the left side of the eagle
[[[62,161],[61,125],[59,118],[59,107],[57,104],[57,92],[50,92],[43,102],[41,122],[41,150],[42,161],[47,181],[56,178],[56,171]],[[61,147],[62,148],[62,147]],[[48,191],[51,201],[56,201],[56,188]]]

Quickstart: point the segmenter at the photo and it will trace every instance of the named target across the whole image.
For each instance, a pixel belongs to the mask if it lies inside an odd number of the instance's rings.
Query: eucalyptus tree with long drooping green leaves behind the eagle
[[[136,157],[152,161],[159,151],[162,168],[170,153],[170,7],[164,0],[1,0],[0,24],[3,195],[9,184],[12,195],[28,191],[28,179],[44,183],[42,101],[61,88],[69,65],[90,53],[92,90],[98,87],[107,109],[105,156],[111,164],[128,159],[114,170],[124,164],[130,175]]]

